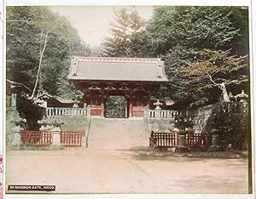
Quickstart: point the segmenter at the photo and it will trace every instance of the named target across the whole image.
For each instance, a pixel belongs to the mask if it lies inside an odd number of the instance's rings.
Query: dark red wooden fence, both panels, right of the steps
[[[208,148],[212,144],[211,134],[186,134],[186,145],[191,148],[193,146],[201,146]],[[177,134],[172,133],[151,133],[149,145],[158,147],[176,147],[178,145]]]

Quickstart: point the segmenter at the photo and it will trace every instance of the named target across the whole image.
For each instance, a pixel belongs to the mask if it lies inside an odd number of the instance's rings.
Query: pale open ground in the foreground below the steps
[[[55,193],[247,193],[247,159],[138,156],[136,151],[9,151],[7,185]],[[22,191],[24,193],[24,191]]]

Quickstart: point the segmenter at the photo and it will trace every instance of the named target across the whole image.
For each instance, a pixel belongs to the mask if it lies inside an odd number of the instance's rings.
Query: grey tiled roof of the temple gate
[[[160,59],[73,56],[68,79],[166,82]]]

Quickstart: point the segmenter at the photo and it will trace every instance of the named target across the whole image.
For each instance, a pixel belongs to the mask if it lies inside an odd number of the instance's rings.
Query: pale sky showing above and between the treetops
[[[114,10],[125,7],[113,6],[51,6],[49,9],[64,15],[79,32],[79,36],[91,47],[100,45],[105,36],[110,35],[109,24],[114,21]],[[127,8],[127,7],[126,7]],[[130,7],[131,8],[131,7]],[[152,6],[137,6],[138,14],[148,20]]]

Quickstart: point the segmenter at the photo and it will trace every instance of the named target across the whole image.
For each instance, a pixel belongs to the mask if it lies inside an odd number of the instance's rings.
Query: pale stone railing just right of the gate
[[[148,118],[175,118],[178,116],[178,111],[169,110],[147,110],[144,117]]]

